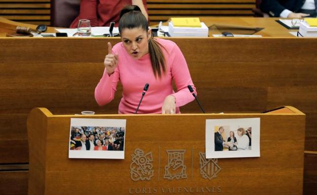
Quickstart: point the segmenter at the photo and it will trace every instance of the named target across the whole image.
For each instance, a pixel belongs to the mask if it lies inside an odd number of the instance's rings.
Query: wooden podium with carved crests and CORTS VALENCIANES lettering
[[[71,118],[126,119],[124,160],[69,159]],[[261,157],[206,160],[205,120],[239,118],[261,119]],[[291,106],[268,113],[172,115],[54,115],[35,108],[27,132],[29,195],[302,194],[305,114]],[[183,178],[165,177],[171,151],[181,151]],[[153,174],[132,177],[133,163],[150,163],[145,167]]]

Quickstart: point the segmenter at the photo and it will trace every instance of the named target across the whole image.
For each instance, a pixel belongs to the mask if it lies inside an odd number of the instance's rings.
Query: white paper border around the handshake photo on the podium
[[[252,127],[251,150],[214,151],[214,127]],[[206,120],[206,159],[260,157],[260,118],[207,119]]]

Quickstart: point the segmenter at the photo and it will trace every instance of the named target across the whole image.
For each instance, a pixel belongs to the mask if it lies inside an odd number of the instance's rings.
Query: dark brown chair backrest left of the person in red
[[[51,26],[68,28],[79,10],[80,0],[51,0]]]

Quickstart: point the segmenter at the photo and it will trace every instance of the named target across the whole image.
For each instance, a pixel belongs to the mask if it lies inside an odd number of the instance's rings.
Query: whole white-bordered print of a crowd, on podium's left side
[[[126,120],[71,119],[69,158],[124,159]]]

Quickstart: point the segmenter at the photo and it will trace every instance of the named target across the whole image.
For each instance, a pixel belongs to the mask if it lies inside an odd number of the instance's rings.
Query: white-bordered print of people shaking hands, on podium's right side
[[[260,157],[260,118],[206,120],[206,158]]]

